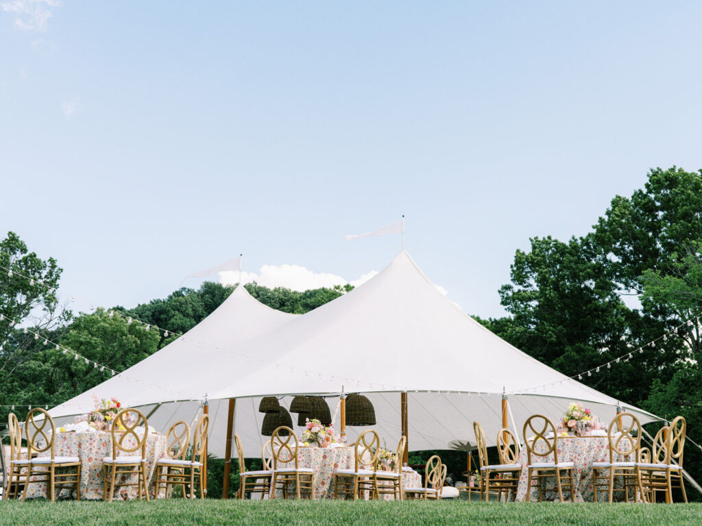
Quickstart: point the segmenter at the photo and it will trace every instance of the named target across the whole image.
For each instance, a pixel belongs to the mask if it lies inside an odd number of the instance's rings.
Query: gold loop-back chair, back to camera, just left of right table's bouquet
[[[529,430],[529,433],[527,433]],[[546,438],[547,434],[553,437],[552,440]],[[575,500],[575,480],[574,480],[574,464],[573,462],[558,461],[558,436],[553,423],[542,414],[534,414],[524,422],[524,444],[527,446],[527,502],[531,500],[531,481],[536,481],[538,485],[538,500],[543,501],[543,481],[545,478],[556,478],[556,491],[558,499],[564,502],[563,487],[570,489],[571,502]],[[527,434],[534,433],[531,440],[527,438]],[[541,447],[543,443],[543,447]],[[535,462],[532,461],[538,458],[545,458],[553,454],[552,462]],[[553,490],[550,490],[553,491]]]

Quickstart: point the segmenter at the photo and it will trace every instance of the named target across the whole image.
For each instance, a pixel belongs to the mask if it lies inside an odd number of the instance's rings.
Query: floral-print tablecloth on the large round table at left
[[[57,457],[78,457],[81,460],[81,499],[102,499],[104,494],[104,470],[102,459],[112,457],[112,436],[110,433],[56,433],[55,448]],[[50,452],[43,452],[40,457],[48,457]],[[128,456],[119,454],[118,457]],[[146,476],[147,487],[153,496],[153,475],[156,460],[166,455],[166,436],[161,433],[149,433],[146,437]],[[136,483],[136,475],[130,483]],[[126,476],[122,477],[126,482]],[[62,496],[68,496],[69,490],[63,490]],[[136,499],[137,487],[119,487],[116,498]],[[32,483],[30,479],[27,498],[46,497],[46,483]]]

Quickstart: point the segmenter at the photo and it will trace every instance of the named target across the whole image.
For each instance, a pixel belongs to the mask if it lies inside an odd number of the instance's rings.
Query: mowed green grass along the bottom
[[[646,526],[702,525],[702,504],[498,504],[468,501],[0,502],[4,525]]]

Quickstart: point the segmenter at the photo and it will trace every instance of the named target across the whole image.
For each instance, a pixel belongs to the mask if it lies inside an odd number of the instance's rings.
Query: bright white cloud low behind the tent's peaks
[[[234,285],[239,283],[239,272],[225,271],[220,272],[220,282],[223,285]],[[314,288],[332,288],[334,285],[345,285],[350,283],[354,287],[363,285],[378,274],[377,270],[363,274],[355,280],[347,280],[336,274],[327,272],[314,272],[300,265],[263,265],[258,270],[258,274],[254,272],[241,272],[241,282],[251,283],[256,281],[259,285],[264,285],[268,288],[284,287],[291,290],[299,290],[303,292]],[[445,288],[441,285],[435,285],[437,290],[444,296],[448,294]]]

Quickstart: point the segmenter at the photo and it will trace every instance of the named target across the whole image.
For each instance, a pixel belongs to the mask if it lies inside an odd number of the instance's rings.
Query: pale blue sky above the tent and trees
[[[75,309],[239,252],[354,281],[400,240],[341,238],[404,214],[425,274],[499,316],[530,236],[702,168],[701,4],[0,6],[0,231],[58,259]]]

